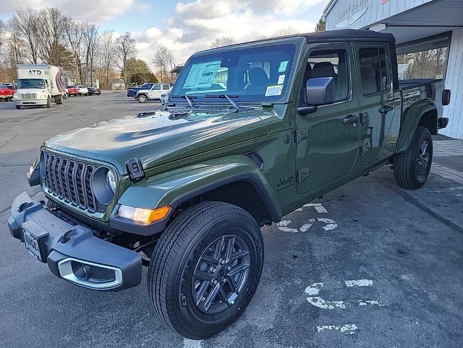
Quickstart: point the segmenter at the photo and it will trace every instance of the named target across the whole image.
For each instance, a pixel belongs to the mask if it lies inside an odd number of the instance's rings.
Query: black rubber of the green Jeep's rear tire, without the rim
[[[429,133],[429,130],[425,127],[417,127],[407,150],[403,153],[397,153],[394,155],[394,179],[397,185],[403,189],[416,190],[422,186],[417,184],[414,179],[414,172],[411,167],[413,163],[413,155],[416,151],[418,139],[422,134]],[[432,153],[431,153],[432,158]]]

